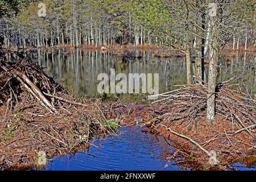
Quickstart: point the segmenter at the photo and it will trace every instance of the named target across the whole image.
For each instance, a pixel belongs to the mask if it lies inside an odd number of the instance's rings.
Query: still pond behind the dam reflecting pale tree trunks
[[[76,49],[71,53],[61,53],[53,50],[47,53],[39,50],[32,56],[38,59],[50,76],[57,76],[57,81],[73,93],[85,93],[88,96],[98,96],[97,76],[100,73],[110,75],[110,69],[116,73],[159,73],[159,92],[175,89],[174,85],[186,84],[186,68],[184,57],[159,59],[152,52],[140,52],[142,59],[122,61],[122,57],[110,52],[82,51]],[[246,55],[245,55],[246,56]],[[256,59],[246,59],[243,55],[237,58],[222,58],[218,67],[217,82],[226,81],[234,76],[240,76],[241,89],[246,90],[255,98],[255,62]],[[192,74],[195,75],[193,64]],[[205,77],[208,76],[208,65],[205,65]]]

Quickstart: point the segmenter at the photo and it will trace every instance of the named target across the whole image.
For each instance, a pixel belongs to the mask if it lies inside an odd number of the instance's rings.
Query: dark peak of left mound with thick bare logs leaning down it
[[[10,106],[13,106],[14,98],[18,104],[20,90],[26,90],[49,112],[57,112],[55,103],[53,100],[52,102],[48,100],[44,92],[48,94],[64,92],[64,89],[57,85],[51,77],[44,74],[38,65],[33,64],[30,60],[15,61],[15,63],[1,61],[0,76],[2,77],[0,98],[5,101],[9,96],[6,114],[9,109],[12,109]]]

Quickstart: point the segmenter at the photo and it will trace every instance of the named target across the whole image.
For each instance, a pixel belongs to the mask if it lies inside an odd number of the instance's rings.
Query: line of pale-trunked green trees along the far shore
[[[1,0],[0,3],[6,1]],[[12,2],[12,1],[10,1]],[[17,2],[17,1],[13,1]],[[26,3],[27,2],[27,3]],[[200,47],[208,44],[208,0],[43,0],[46,17],[38,16],[38,1],[20,1],[19,15],[1,18],[5,47],[55,47],[68,44],[102,46],[146,44]],[[220,5],[221,44],[253,43],[254,1],[216,1]],[[13,3],[11,3],[13,4]],[[3,6],[4,7],[4,6]],[[10,9],[6,9],[9,13]],[[4,17],[4,15],[3,15]],[[206,37],[206,38],[205,38]],[[204,38],[204,40],[201,38]],[[206,52],[207,50],[205,50]]]

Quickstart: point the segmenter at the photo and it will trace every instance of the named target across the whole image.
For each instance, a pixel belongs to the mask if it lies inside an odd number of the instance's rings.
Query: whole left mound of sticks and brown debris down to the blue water
[[[102,121],[117,118],[117,104],[73,97],[28,58],[1,60],[0,77],[0,170],[35,167],[39,151],[65,155],[115,132]]]

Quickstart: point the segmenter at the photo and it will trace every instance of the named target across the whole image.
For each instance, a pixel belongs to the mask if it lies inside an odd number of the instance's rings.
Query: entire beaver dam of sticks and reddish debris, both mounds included
[[[118,128],[127,125],[143,127],[148,136],[143,141],[150,146],[161,137],[172,150],[159,150],[157,155],[181,168],[225,170],[237,162],[247,161],[249,167],[255,164],[256,101],[249,94],[234,90],[238,86],[235,78],[217,85],[216,119],[208,123],[207,84],[177,86],[160,94],[158,101],[138,105],[127,100],[75,97],[28,57],[2,56],[0,76],[1,170],[43,169],[46,164],[39,162],[42,152],[48,164],[55,156],[76,156],[84,148],[98,148],[96,139],[104,142],[110,136],[117,137]],[[140,138],[133,142],[143,138],[136,136]],[[134,146],[128,142],[126,148],[129,147]],[[143,151],[147,163],[148,151],[139,150],[140,147],[138,144],[132,156],[140,156],[136,153]],[[148,150],[154,151],[150,147]],[[108,151],[116,152],[113,148]]]

